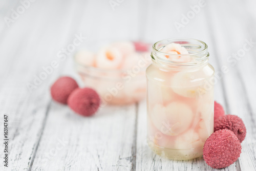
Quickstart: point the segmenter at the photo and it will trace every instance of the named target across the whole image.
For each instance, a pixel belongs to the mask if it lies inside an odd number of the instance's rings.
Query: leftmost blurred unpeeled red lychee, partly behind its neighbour
[[[67,104],[69,95],[78,88],[78,84],[71,77],[58,78],[51,87],[52,98],[63,104]]]

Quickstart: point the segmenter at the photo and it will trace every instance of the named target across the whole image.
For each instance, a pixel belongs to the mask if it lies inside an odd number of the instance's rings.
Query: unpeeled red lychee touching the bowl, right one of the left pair
[[[99,109],[100,98],[91,88],[76,89],[69,96],[68,105],[82,116],[91,116]]]

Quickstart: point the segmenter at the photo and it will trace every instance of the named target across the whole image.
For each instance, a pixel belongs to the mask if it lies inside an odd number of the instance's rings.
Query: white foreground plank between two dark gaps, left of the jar
[[[135,110],[107,106],[82,117],[52,103],[32,170],[131,170]]]

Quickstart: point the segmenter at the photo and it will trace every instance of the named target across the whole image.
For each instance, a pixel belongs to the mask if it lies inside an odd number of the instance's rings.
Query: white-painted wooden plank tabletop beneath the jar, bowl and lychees
[[[255,1],[206,1],[195,15],[190,6],[198,1],[114,0],[114,9],[109,0],[37,0],[25,3],[27,8],[20,7],[22,2],[0,1],[0,170],[215,170],[202,158],[170,161],[151,152],[146,144],[145,101],[107,106],[90,118],[52,101],[49,87],[57,77],[79,79],[72,53],[63,61],[57,57],[76,34],[87,37],[84,42],[156,42],[170,37],[205,41],[219,76],[215,99],[247,127],[239,160],[221,170],[256,170]],[[190,19],[182,24],[183,14]],[[177,23],[182,24],[179,31]],[[234,53],[241,57],[234,58]],[[30,92],[27,83],[53,60],[59,66]],[[227,73],[221,72],[225,66]],[[3,162],[4,115],[8,168]]]

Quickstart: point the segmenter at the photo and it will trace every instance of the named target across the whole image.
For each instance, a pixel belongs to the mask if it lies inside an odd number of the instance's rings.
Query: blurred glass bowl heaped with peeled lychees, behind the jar
[[[148,44],[118,41],[90,46],[75,54],[75,69],[84,86],[100,95],[102,105],[131,104],[145,98],[145,69],[151,63]]]

